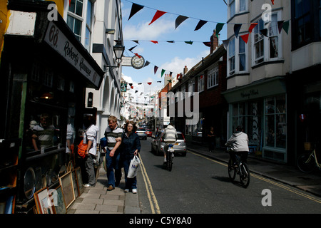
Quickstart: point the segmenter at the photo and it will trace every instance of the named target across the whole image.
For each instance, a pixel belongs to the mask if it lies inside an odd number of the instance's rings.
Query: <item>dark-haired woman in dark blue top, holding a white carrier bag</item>
[[[123,169],[125,171],[125,192],[137,193],[137,180],[136,177],[128,178],[129,165],[131,160],[141,150],[141,141],[139,140],[136,132],[136,124],[133,121],[129,121],[125,126],[125,133],[123,133],[121,140],[121,160],[123,160]]]

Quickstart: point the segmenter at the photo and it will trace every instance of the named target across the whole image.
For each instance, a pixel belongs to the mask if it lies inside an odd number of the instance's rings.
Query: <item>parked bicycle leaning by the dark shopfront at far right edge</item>
[[[321,170],[321,163],[317,162],[317,154],[315,148],[312,152],[305,152],[299,157],[297,157],[297,167],[302,172],[312,172],[315,167]]]

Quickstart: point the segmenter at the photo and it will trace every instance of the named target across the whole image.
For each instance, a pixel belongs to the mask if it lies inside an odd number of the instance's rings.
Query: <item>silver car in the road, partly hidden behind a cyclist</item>
[[[176,140],[174,144],[174,154],[182,154],[183,156],[186,156],[186,141],[183,133],[180,131],[177,132],[178,139]],[[156,133],[155,137],[152,137],[153,140],[151,141],[151,150],[152,152],[156,152],[156,155],[163,155],[164,151],[164,132],[159,131]]]

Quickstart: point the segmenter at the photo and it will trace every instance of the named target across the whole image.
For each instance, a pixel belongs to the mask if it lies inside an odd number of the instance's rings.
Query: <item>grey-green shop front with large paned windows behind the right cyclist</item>
[[[251,153],[287,162],[287,95],[283,78],[269,78],[223,94],[229,103],[228,135],[243,125]]]

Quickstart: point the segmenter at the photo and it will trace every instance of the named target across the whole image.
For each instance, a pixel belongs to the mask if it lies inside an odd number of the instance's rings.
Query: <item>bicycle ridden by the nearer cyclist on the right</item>
[[[248,164],[240,160],[240,157],[236,154],[235,158],[235,164],[233,164],[231,157],[230,160],[228,160],[228,177],[230,177],[230,180],[233,181],[235,180],[236,174],[240,175],[240,183],[246,188],[248,185],[250,185],[250,170],[248,169]]]

